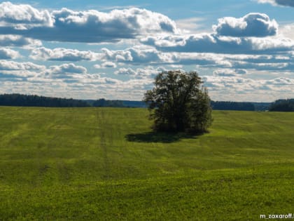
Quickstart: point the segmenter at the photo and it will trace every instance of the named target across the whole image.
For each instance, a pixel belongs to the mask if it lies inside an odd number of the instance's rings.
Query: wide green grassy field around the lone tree
[[[260,220],[294,213],[294,113],[214,111],[152,133],[146,109],[0,107],[0,220]]]

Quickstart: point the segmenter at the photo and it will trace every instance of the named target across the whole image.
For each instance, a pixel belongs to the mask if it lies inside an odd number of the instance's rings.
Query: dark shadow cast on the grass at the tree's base
[[[197,138],[201,134],[186,133],[162,133],[162,132],[146,132],[146,133],[130,133],[125,135],[125,139],[130,142],[176,142],[184,138]]]

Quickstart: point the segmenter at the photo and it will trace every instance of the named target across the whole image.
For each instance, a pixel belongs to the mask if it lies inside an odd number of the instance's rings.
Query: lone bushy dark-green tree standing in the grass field
[[[144,101],[158,131],[206,132],[211,126],[211,106],[207,88],[197,72],[169,71],[155,77],[155,87]]]

